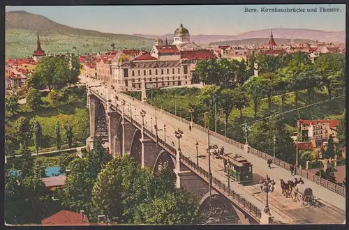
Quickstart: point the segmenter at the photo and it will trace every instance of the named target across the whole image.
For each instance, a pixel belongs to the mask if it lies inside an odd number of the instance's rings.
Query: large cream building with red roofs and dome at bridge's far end
[[[154,40],[151,52],[128,50],[107,52],[96,57],[96,77],[124,91],[193,84],[192,74],[200,60],[215,59],[208,49],[191,42],[183,24],[174,31],[173,43]]]

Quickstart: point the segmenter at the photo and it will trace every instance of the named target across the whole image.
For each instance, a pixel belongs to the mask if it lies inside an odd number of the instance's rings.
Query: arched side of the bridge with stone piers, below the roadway
[[[88,149],[93,148],[93,138],[100,136],[105,139],[105,146],[114,157],[130,154],[141,167],[153,169],[154,174],[165,168],[173,170],[177,176],[177,187],[195,194],[200,200],[200,224],[258,224],[260,212],[257,208],[251,215],[214,188],[210,196],[205,171],[201,169],[202,174],[198,173],[196,167],[190,166],[188,158],[156,136],[157,132],[164,130],[156,131],[155,121],[154,124],[142,125],[142,118],[134,113],[137,109],[130,111],[126,106],[112,105],[110,100],[107,102],[93,91],[90,91],[87,102],[91,134],[87,139]]]

